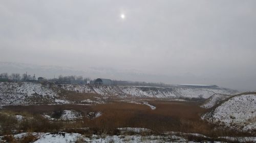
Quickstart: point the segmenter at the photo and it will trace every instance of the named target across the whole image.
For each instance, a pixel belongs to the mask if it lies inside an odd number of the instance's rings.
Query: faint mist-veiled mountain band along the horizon
[[[108,67],[89,67],[86,69],[76,69],[73,67],[62,67],[62,66],[44,66],[35,64],[25,63],[14,63],[14,62],[0,62],[0,73],[7,72],[11,73],[26,73],[36,77],[42,76],[46,78],[57,78],[59,75],[81,75],[83,77],[89,77],[95,79],[111,78],[114,80],[127,80],[127,81],[145,81],[145,82],[163,82],[167,84],[207,84],[207,85],[219,85],[220,87],[236,89],[240,91],[254,91],[253,79],[241,79],[240,83],[233,82],[230,84],[230,79],[216,78],[216,77],[198,77],[192,73],[186,73],[183,75],[162,75],[162,74],[147,74],[142,73],[138,70],[133,69],[113,69]],[[239,78],[239,77],[238,77]],[[255,77],[256,78],[256,77]],[[233,79],[231,79],[232,81]],[[243,82],[250,86],[242,87]]]

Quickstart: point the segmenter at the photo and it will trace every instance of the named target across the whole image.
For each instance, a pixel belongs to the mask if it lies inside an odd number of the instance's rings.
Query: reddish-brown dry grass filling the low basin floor
[[[5,106],[1,113],[12,113],[14,115],[29,115],[36,121],[16,127],[19,130],[30,131],[49,131],[71,130],[74,128],[90,127],[93,133],[117,134],[116,128],[119,127],[142,127],[154,131],[156,134],[167,131],[200,133],[207,136],[244,136],[248,135],[231,130],[216,128],[200,119],[200,115],[206,109],[200,108],[197,102],[178,102],[178,101],[148,101],[156,106],[152,110],[147,105],[113,102],[98,105],[31,105],[31,106]],[[82,113],[84,118],[76,121],[48,121],[41,115],[45,112],[60,110],[76,110]],[[90,119],[86,116],[90,112],[100,111],[102,115],[98,118]],[[0,118],[0,123],[4,122],[4,117]],[[32,122],[31,122],[32,123]],[[40,128],[40,125],[46,128]],[[2,123],[3,124],[3,123]],[[10,123],[11,124],[11,123]],[[6,125],[8,127],[8,125]],[[26,128],[24,126],[29,126]],[[15,128],[12,126],[12,129]],[[18,129],[17,129],[18,130]]]

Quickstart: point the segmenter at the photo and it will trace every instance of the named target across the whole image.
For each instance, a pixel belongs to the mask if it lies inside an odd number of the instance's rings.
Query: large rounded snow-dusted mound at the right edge
[[[202,118],[237,130],[256,130],[256,95],[232,97]]]

